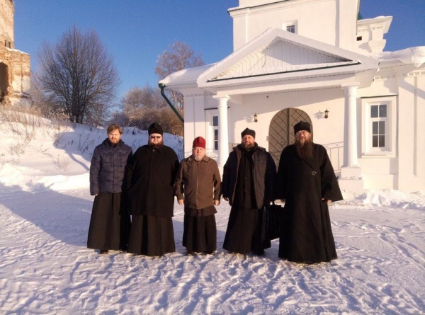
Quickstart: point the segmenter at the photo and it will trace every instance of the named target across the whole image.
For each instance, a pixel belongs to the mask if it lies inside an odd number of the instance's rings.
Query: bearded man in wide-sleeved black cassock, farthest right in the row
[[[342,200],[326,149],[312,142],[308,122],[294,126],[295,144],[283,149],[276,181],[276,199],[287,214],[279,239],[279,257],[297,263],[336,259],[328,205]]]

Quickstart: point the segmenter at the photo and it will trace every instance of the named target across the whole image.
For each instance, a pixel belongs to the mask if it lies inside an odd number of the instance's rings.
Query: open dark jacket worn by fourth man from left
[[[222,195],[229,198],[229,205],[232,205],[234,201],[234,190],[239,175],[241,150],[244,150],[241,144],[234,147],[223,168]],[[273,200],[276,164],[266,149],[255,144],[253,150],[252,159],[254,161],[254,168],[252,171],[252,185],[254,185],[256,207],[259,209],[263,207],[265,202]]]

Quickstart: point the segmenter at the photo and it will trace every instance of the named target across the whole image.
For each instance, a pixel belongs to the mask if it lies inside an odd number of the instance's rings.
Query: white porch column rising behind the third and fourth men
[[[218,97],[218,161],[220,168],[225,166],[229,156],[229,129],[227,122],[227,101],[229,97]]]

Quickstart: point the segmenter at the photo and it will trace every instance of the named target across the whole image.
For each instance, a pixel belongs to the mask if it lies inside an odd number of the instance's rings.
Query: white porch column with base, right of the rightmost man
[[[352,193],[363,193],[364,183],[357,157],[357,84],[341,86],[345,91],[344,107],[344,165],[339,187]]]

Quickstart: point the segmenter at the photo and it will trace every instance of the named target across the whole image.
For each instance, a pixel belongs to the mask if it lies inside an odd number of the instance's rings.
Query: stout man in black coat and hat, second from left
[[[125,169],[132,214],[128,252],[159,257],[176,251],[173,185],[179,159],[173,149],[164,145],[161,125],[154,122],[148,133],[147,145],[137,149]]]

